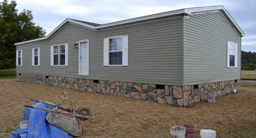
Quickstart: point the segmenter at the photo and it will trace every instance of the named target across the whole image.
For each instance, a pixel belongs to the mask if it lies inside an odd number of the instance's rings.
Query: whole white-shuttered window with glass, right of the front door
[[[128,36],[104,38],[104,66],[128,66]]]

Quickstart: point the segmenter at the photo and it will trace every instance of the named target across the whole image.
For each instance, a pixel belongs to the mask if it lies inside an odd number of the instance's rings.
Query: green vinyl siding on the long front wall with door
[[[93,80],[181,85],[181,17],[164,18],[110,27],[98,31],[68,23],[49,40],[16,47],[22,50],[22,66],[17,73],[63,76]],[[103,66],[103,39],[129,36],[128,66]],[[89,40],[89,75],[78,75],[75,42]],[[52,45],[69,44],[68,66],[51,66]],[[40,66],[32,66],[32,48],[40,47]]]

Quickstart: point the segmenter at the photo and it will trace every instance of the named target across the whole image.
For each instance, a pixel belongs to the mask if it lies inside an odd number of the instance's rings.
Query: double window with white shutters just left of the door
[[[51,46],[51,66],[68,65],[68,44]]]

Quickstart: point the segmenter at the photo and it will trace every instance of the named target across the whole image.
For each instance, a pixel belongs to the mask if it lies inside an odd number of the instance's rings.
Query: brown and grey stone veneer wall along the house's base
[[[16,76],[16,81],[131,97],[175,106],[187,106],[195,102],[207,101],[208,94],[215,94],[218,97],[234,92],[234,89],[238,91],[240,87],[240,79],[191,86],[162,86],[163,89],[157,89],[154,84],[98,81],[57,76],[48,76],[46,78],[46,76],[42,75],[19,75],[19,73]]]

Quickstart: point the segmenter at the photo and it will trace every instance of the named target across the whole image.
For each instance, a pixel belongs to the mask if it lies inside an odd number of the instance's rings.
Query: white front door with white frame
[[[79,41],[79,74],[89,75],[89,46],[88,40]]]

